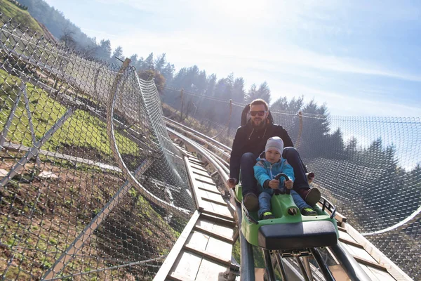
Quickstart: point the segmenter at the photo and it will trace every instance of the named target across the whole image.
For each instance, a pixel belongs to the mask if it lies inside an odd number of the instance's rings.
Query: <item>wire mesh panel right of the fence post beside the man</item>
[[[420,279],[420,118],[308,118],[300,150],[315,184],[354,228]],[[314,124],[322,120],[334,129],[324,136]]]

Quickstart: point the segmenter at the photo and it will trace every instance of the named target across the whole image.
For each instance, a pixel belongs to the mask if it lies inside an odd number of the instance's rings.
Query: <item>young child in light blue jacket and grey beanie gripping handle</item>
[[[288,164],[286,159],[282,158],[283,141],[281,138],[274,136],[269,138],[266,143],[265,151],[260,154],[258,163],[254,166],[255,178],[258,180],[259,194],[259,219],[275,218],[271,212],[270,200],[277,188],[285,186],[290,190],[295,204],[303,216],[317,216],[316,211],[312,209],[293,188],[294,171],[293,167]],[[279,174],[286,174],[289,181],[284,178],[275,180],[274,177]]]

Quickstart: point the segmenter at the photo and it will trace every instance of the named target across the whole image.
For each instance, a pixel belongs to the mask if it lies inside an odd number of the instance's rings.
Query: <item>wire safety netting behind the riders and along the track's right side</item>
[[[175,89],[166,89],[165,96],[174,110],[163,108],[172,119],[232,145],[245,105]],[[271,111],[316,174],[312,184],[375,247],[420,280],[420,118],[330,116],[314,102],[302,106],[301,114]]]

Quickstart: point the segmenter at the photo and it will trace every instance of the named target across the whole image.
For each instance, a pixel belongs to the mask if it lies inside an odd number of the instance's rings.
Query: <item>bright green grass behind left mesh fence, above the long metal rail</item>
[[[14,100],[20,92],[21,81],[18,77],[0,70],[0,84],[0,130],[2,131],[10,115]],[[67,108],[48,96],[48,93],[39,87],[27,83],[26,89],[35,136],[39,140],[65,114]],[[25,100],[21,96],[7,137],[8,141],[12,143],[32,146],[32,134],[29,130],[29,118],[24,103]],[[119,133],[116,133],[115,136],[121,154],[139,155],[138,145],[133,141]],[[96,150],[100,152],[102,157],[112,156],[107,136],[107,124],[83,110],[76,110],[41,149],[56,151],[69,146]]]

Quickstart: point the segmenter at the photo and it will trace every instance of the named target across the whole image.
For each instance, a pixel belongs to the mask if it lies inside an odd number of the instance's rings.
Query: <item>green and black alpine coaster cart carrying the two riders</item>
[[[276,175],[276,179],[286,174]],[[295,258],[304,277],[312,280],[312,273],[307,264],[303,264],[300,256],[312,256],[316,260],[326,280],[335,280],[332,273],[323,262],[317,248],[332,247],[338,244],[338,226],[334,219],[335,207],[324,197],[314,207],[317,216],[302,216],[295,205],[289,190],[281,192],[274,190],[272,196],[272,214],[275,218],[259,220],[257,211],[248,211],[243,204],[241,182],[236,185],[237,204],[241,204],[241,233],[247,242],[260,247],[265,258],[265,278],[276,280],[274,264],[279,266],[282,280],[288,280],[286,268],[282,259]],[[328,212],[330,214],[328,214]],[[307,266],[307,271],[306,271]]]

